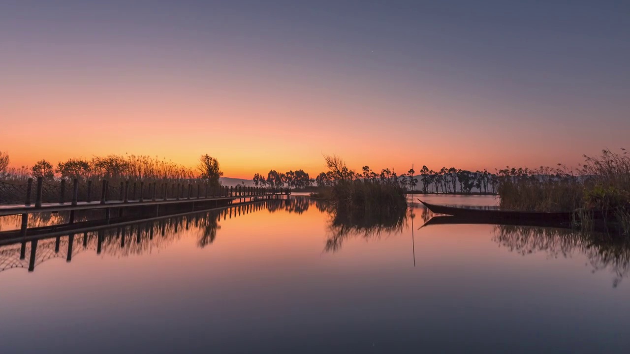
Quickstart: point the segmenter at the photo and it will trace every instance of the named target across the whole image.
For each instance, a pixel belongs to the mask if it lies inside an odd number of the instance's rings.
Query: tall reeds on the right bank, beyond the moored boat
[[[578,210],[588,224],[593,215],[616,220],[630,234],[630,156],[607,149],[584,156],[575,171],[566,168],[502,169],[498,195],[501,208],[544,212]]]

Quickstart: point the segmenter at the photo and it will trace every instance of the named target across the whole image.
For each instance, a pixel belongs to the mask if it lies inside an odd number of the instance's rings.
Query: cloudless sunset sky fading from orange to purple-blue
[[[577,166],[630,148],[627,1],[0,2],[14,166],[142,154],[225,176]]]

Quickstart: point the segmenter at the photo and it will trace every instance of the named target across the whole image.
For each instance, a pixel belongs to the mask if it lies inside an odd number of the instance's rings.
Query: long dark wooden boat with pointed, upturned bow
[[[420,199],[418,199],[420,200]],[[523,224],[535,223],[570,223],[574,220],[573,212],[518,212],[510,210],[474,209],[466,207],[447,207],[425,203],[429,210],[435,214],[452,215],[461,220],[476,220],[480,223],[517,222]]]

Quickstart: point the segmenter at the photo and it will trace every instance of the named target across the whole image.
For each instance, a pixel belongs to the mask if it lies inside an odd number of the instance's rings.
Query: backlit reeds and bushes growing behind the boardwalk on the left
[[[43,177],[45,180],[64,179],[126,179],[126,180],[205,180],[210,186],[221,185],[223,175],[219,161],[209,154],[199,157],[197,168],[160,160],[151,156],[109,155],[92,159],[72,158],[56,165],[46,159],[33,166],[20,169],[9,168],[9,155],[0,151],[0,178],[21,180]]]

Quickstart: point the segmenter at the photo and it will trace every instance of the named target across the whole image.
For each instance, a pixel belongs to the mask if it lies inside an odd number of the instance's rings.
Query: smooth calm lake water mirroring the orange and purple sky
[[[549,229],[419,229],[417,205],[380,230],[325,209],[294,197],[113,229],[100,254],[98,234],[76,235],[70,262],[68,237],[58,252],[42,240],[32,272],[30,244],[25,260],[0,246],[0,352],[630,352],[626,249]]]

